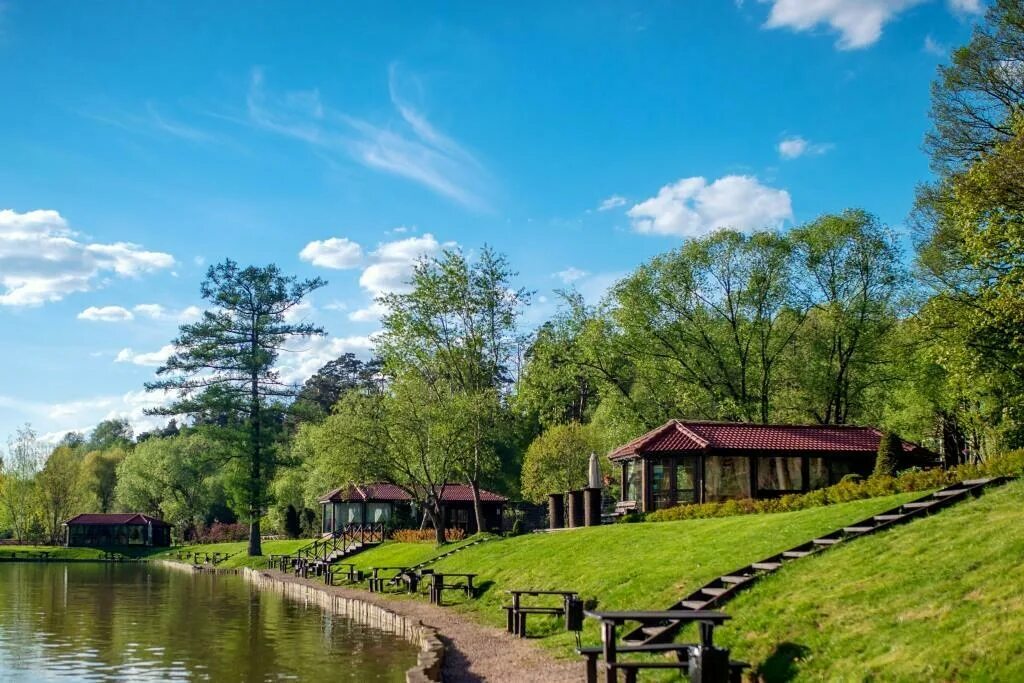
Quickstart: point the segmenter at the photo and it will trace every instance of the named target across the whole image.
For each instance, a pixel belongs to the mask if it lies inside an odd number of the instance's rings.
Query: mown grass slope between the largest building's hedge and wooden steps
[[[678,522],[616,524],[496,540],[439,561],[438,571],[473,572],[483,589],[476,600],[452,594],[456,609],[495,626],[509,589],[574,590],[604,609],[665,608],[705,582],[837,526],[870,516],[921,494],[902,494],[765,515]],[[356,556],[360,567],[403,564],[413,549],[393,544]],[[431,553],[437,553],[431,549]],[[412,559],[411,557],[408,559]],[[449,601],[447,595],[445,600]],[[574,637],[555,618],[530,616],[529,633],[564,656]],[[586,641],[599,642],[589,623]]]

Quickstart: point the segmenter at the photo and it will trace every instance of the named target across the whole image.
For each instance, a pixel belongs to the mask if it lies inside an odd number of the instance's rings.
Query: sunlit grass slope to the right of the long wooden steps
[[[766,681],[1024,681],[1024,480],[787,565],[726,611],[722,642]]]

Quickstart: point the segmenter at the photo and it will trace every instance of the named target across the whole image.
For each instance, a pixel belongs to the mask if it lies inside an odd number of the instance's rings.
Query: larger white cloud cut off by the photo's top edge
[[[972,0],[951,0],[972,4]],[[975,2],[977,0],[974,0]],[[874,44],[883,27],[924,0],[761,0],[771,3],[766,29],[810,31],[826,25],[839,33],[836,46],[853,50]]]

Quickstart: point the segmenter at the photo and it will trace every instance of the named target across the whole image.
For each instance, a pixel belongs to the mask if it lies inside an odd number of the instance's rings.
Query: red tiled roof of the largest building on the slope
[[[879,450],[882,432],[873,427],[670,420],[618,446],[608,457],[617,460],[646,453],[705,450],[873,454]],[[924,449],[910,441],[903,441],[903,451],[913,455],[928,455]]]

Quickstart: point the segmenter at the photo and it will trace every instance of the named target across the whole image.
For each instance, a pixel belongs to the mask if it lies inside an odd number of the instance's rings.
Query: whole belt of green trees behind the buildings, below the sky
[[[348,481],[392,482],[430,521],[445,481],[543,500],[670,418],[877,425],[949,465],[1024,446],[1022,105],[1024,7],[1000,0],[939,68],[907,230],[869,207],[720,230],[596,304],[560,293],[535,330],[514,264],[447,251],[378,301],[371,357],[301,386],[275,362],[324,334],[289,315],[324,283],[225,260],[146,386],[166,427],[53,444],[26,425],[0,461],[0,538],[59,542],[75,513],[131,510],[259,554],[263,535],[318,529],[316,496]]]

